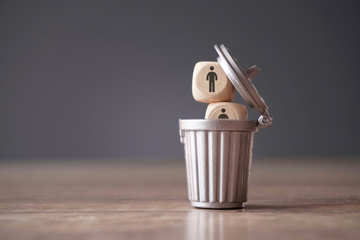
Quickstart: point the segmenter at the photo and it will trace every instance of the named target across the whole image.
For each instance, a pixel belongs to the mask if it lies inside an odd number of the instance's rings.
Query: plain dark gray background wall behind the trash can
[[[255,156],[359,156],[359,6],[0,1],[0,159],[182,159],[194,64],[221,43],[261,69]]]

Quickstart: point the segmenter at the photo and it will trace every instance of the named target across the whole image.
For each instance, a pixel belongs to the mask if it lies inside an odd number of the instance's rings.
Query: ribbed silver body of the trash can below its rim
[[[254,133],[206,130],[183,133],[189,200],[246,202]]]

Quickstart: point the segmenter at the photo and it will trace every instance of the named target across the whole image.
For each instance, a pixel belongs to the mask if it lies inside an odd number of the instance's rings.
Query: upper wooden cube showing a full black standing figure
[[[235,87],[219,62],[198,62],[192,75],[192,96],[204,103],[231,102]]]

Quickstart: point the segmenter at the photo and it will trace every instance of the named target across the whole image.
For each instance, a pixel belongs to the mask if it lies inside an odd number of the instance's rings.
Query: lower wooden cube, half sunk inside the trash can
[[[247,120],[248,109],[240,103],[210,103],[205,119],[236,119]]]

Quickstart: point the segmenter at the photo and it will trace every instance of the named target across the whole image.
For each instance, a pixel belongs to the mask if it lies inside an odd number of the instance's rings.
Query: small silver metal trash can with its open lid
[[[272,124],[262,98],[249,76],[225,46],[215,45],[224,72],[258,120],[179,120],[185,148],[187,195],[193,207],[241,208],[248,200],[254,133]]]

